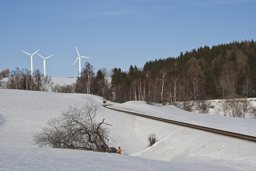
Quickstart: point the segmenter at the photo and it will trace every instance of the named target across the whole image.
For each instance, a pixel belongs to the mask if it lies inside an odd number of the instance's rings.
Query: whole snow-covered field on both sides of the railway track
[[[56,84],[56,83],[55,83]],[[0,89],[0,170],[4,171],[255,171],[256,143],[140,118],[100,107],[111,137],[122,154],[38,148],[33,133],[40,131],[69,105],[103,104],[88,94],[64,94]],[[113,104],[123,110],[256,136],[256,119],[190,113],[174,106],[143,101]],[[158,142],[148,148],[149,133]]]

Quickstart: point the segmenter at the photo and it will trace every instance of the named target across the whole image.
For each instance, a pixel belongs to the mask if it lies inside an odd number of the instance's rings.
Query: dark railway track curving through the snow
[[[207,131],[207,132],[210,132],[210,133],[215,133],[215,134],[219,134],[219,135],[223,135],[223,136],[229,136],[229,137],[233,137],[233,138],[236,138],[236,139],[243,139],[243,140],[246,140],[246,141],[256,143],[256,137],[255,136],[248,136],[248,135],[244,135],[244,134],[240,134],[240,133],[233,133],[233,132],[229,132],[229,131],[225,131],[225,130],[207,128],[207,127],[188,124],[188,123],[184,123],[184,122],[177,122],[177,121],[173,121],[173,120],[169,120],[169,119],[158,118],[158,117],[155,117],[155,116],[148,116],[148,115],[144,115],[144,114],[140,114],[140,113],[128,112],[128,111],[125,111],[125,110],[110,108],[110,107],[108,107],[109,105],[111,105],[111,104],[103,105],[103,107],[106,107],[108,109],[115,110],[115,111],[118,111],[118,112],[128,113],[128,114],[135,115],[135,116],[140,116],[140,117],[153,119],[153,120],[157,120],[157,121],[161,121],[161,122],[180,125],[180,126],[184,126],[184,127],[187,127],[187,128],[203,130],[203,131]]]

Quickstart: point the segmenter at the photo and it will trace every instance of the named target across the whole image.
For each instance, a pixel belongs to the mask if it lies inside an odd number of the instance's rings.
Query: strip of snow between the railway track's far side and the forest
[[[220,115],[209,116],[208,114],[187,112],[173,105],[148,105],[145,104],[144,101],[128,101],[123,104],[115,104],[111,107],[165,118],[169,120],[175,120],[178,122],[185,122],[219,130],[226,130],[230,132],[256,136],[255,119],[241,119],[230,116],[223,117]]]

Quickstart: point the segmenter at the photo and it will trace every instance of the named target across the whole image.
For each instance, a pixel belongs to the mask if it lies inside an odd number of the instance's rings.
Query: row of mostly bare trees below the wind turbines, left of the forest
[[[33,91],[53,91],[55,93],[86,93],[102,96],[105,99],[112,99],[110,81],[106,79],[108,71],[105,68],[94,73],[93,66],[86,62],[81,77],[76,79],[76,83],[71,85],[59,85],[52,82],[51,77],[44,77],[40,70],[34,70],[33,76],[28,69],[18,67],[11,72],[9,69],[0,72],[0,78],[9,77],[3,86],[6,89],[33,90]]]

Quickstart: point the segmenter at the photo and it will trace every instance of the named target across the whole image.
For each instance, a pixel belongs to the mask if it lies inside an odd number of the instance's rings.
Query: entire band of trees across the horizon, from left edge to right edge
[[[233,41],[216,46],[199,47],[177,58],[147,61],[143,69],[130,66],[127,72],[106,68],[94,73],[86,62],[81,77],[72,85],[54,87],[50,77],[39,70],[34,77],[27,69],[6,69],[0,78],[9,77],[4,86],[9,89],[48,91],[57,93],[87,93],[124,103],[146,101],[148,104],[174,104],[191,111],[204,106],[209,99],[238,99],[256,97],[256,43]],[[111,81],[108,81],[108,75]],[[194,106],[194,107],[193,107]],[[203,111],[204,112],[204,111]]]

